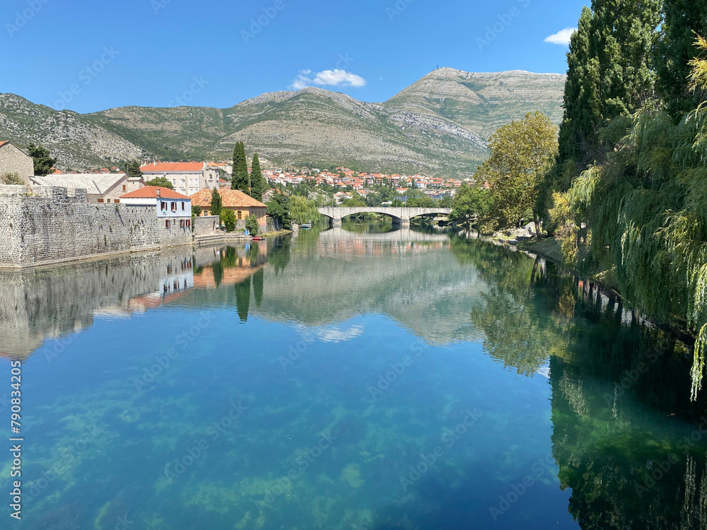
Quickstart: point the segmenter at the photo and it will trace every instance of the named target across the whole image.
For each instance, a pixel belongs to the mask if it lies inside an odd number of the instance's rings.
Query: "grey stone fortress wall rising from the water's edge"
[[[0,185],[0,266],[191,244],[191,228],[181,227],[180,218],[158,219],[156,208],[88,204],[85,189]]]

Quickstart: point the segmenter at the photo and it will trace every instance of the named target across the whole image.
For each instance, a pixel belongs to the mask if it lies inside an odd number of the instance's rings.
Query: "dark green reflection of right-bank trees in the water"
[[[452,251],[489,285],[471,314],[486,351],[527,375],[549,360],[553,456],[580,527],[707,529],[707,421],[704,398],[689,400],[689,341],[553,264],[453,238]]]

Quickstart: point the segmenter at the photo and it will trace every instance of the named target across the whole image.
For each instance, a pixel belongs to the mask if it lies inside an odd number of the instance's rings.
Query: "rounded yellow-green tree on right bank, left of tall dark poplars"
[[[491,215],[512,225],[530,215],[539,225],[544,212],[538,199],[557,155],[556,126],[547,114],[529,112],[491,134],[489,148],[491,156],[474,178],[491,185]]]

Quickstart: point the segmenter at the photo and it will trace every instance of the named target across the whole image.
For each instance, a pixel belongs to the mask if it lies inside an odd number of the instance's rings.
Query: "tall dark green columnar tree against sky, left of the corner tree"
[[[631,116],[655,86],[653,54],[661,0],[593,0],[572,37],[559,160],[600,158],[600,129]]]

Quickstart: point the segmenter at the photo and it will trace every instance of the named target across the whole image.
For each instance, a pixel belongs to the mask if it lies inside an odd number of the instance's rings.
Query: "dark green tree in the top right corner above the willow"
[[[656,47],[658,92],[668,113],[679,121],[700,102],[700,93],[689,89],[689,61],[697,54],[695,33],[707,35],[707,0],[665,0],[664,20]]]

